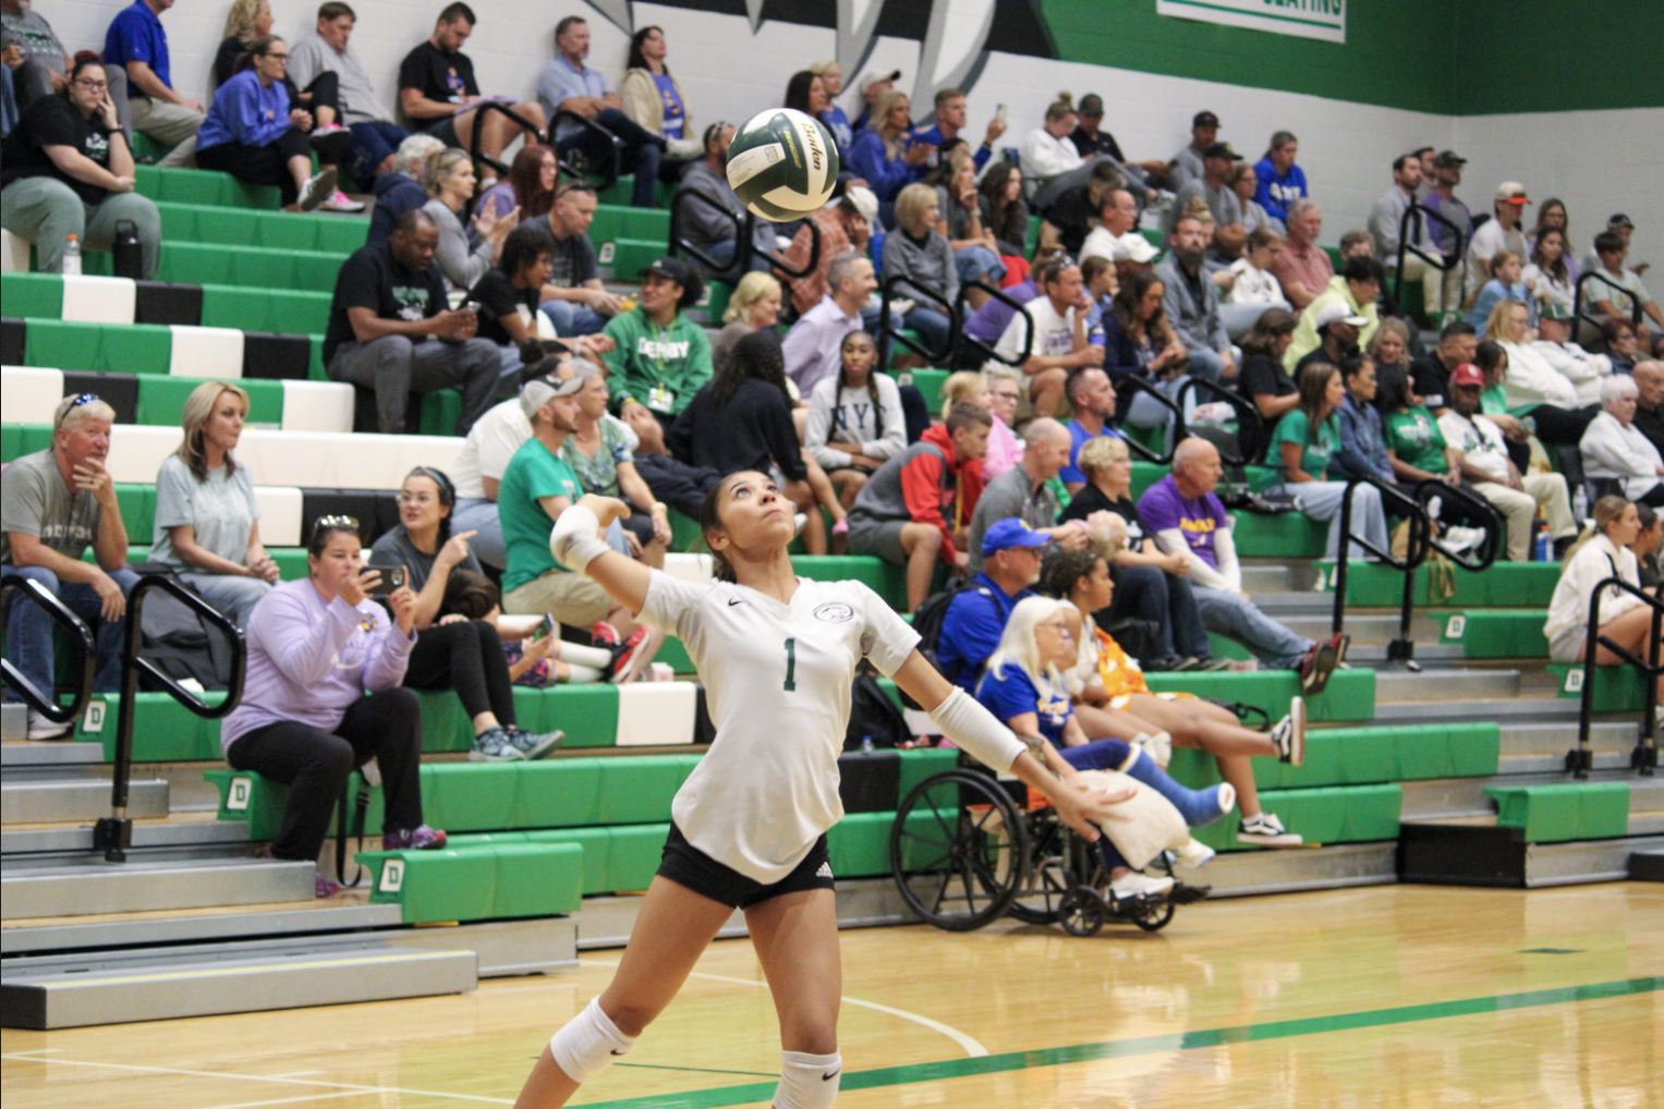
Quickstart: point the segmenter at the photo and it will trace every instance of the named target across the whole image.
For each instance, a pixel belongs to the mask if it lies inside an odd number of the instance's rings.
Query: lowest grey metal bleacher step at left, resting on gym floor
[[[0,1024],[80,1028],[474,989],[474,951],[439,938],[451,943],[434,951],[346,934],[13,958],[0,968]]]

